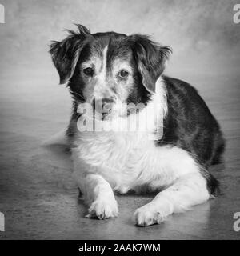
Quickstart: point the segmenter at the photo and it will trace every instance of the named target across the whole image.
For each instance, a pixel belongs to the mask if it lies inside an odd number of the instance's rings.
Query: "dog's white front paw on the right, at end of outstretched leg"
[[[153,210],[148,205],[142,206],[135,210],[134,218],[138,226],[160,224],[164,220],[160,211]]]

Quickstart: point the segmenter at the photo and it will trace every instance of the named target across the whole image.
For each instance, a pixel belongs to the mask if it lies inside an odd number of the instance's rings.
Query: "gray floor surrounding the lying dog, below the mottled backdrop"
[[[70,97],[57,78],[43,72],[1,75],[0,239],[239,239],[233,230],[240,211],[240,84],[237,77],[182,76],[198,87],[226,135],[225,166],[215,166],[222,195],[161,225],[134,226],[132,214],[151,196],[118,196],[119,217],[84,218],[71,178],[70,154],[41,142],[66,126]]]

